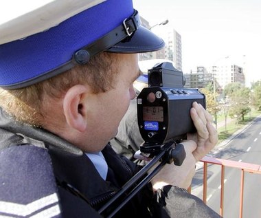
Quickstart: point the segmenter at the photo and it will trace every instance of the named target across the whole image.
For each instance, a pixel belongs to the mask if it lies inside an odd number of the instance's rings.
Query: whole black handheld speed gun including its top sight
[[[156,154],[166,142],[181,142],[194,132],[190,117],[194,101],[205,107],[198,89],[183,88],[183,73],[164,62],[148,70],[148,88],[137,96],[139,131],[145,143],[141,152]]]

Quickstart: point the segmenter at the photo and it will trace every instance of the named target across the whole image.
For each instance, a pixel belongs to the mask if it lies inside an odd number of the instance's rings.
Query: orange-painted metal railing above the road
[[[241,170],[241,179],[240,179],[240,211],[239,217],[242,218],[242,209],[243,209],[243,199],[244,199],[244,180],[245,172],[248,173],[258,173],[261,174],[261,166],[257,164],[249,164],[244,162],[237,162],[233,160],[223,160],[214,157],[203,157],[201,160],[203,162],[203,201],[207,203],[207,165],[216,164],[221,167],[221,188],[220,188],[220,215],[223,217],[223,208],[224,208],[224,180],[225,180],[225,167],[239,168]],[[190,189],[191,191],[191,189]]]

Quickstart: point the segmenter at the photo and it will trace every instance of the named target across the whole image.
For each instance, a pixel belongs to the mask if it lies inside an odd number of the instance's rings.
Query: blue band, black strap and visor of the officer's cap
[[[63,17],[66,17],[64,14]],[[34,20],[32,17],[30,19]],[[4,23],[1,26],[0,22],[0,30],[4,34],[8,31],[8,25]],[[54,22],[48,28],[45,26],[44,31],[13,38],[10,37],[9,41],[8,37],[3,37],[2,41],[0,39],[0,87],[4,89],[38,83],[75,65],[83,65],[91,56],[103,51],[153,52],[164,46],[162,39],[140,25],[139,14],[133,9],[132,0],[99,2],[66,17],[60,23]]]

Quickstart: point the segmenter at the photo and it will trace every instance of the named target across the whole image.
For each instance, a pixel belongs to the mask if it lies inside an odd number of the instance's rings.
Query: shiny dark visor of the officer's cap
[[[130,39],[124,40],[111,47],[107,52],[115,53],[141,53],[155,52],[165,46],[163,39],[159,38],[153,32],[139,26],[139,28],[130,36]]]

